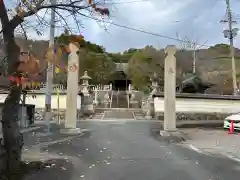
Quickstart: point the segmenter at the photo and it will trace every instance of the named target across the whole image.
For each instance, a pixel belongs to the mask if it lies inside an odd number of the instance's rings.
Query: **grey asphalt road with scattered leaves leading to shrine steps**
[[[240,164],[170,144],[150,122],[81,122],[90,129],[43,148],[52,166],[26,180],[237,180]]]

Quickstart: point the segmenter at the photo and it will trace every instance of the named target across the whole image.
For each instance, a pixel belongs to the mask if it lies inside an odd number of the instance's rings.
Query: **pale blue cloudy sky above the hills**
[[[80,31],[85,39],[104,46],[109,52],[123,52],[129,48],[142,48],[146,45],[153,45],[156,48],[164,48],[167,45],[184,46],[183,43],[161,36],[196,41],[199,46],[204,44],[203,47],[228,43],[223,36],[223,30],[228,26],[219,22],[221,19],[226,19],[225,0],[112,1],[115,4],[108,5],[111,14],[109,18],[104,18],[105,21],[155,35],[129,30],[110,23],[107,24],[107,28],[104,28],[96,20],[78,16],[77,18],[81,20],[82,24]],[[230,5],[233,19],[238,21],[234,27],[240,28],[240,14],[237,14],[240,9],[240,1],[230,0]],[[43,14],[43,11],[39,12],[39,15]],[[64,13],[61,12],[61,14]],[[100,16],[95,15],[94,18],[100,18]],[[34,17],[30,19],[36,21]],[[45,19],[49,21],[49,13]],[[76,30],[74,21],[69,18],[67,21]],[[38,36],[33,29],[28,30],[28,35],[32,39],[49,39],[49,28],[45,27],[40,31],[43,33],[42,36]],[[63,28],[56,27],[56,35],[62,31]],[[234,43],[236,47],[240,48],[240,35],[235,38]]]

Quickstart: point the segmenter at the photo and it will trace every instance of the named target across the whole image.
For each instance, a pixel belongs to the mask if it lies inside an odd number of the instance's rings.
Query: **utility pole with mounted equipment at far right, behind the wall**
[[[237,35],[237,28],[232,27],[232,12],[230,8],[230,2],[229,0],[226,0],[226,5],[227,5],[227,21],[222,20],[221,22],[228,22],[228,30],[224,30],[224,36],[226,38],[229,38],[230,41],[230,56],[232,59],[232,81],[233,81],[233,94],[237,94],[237,78],[236,78],[236,65],[235,65],[235,50],[233,46],[233,39]]]

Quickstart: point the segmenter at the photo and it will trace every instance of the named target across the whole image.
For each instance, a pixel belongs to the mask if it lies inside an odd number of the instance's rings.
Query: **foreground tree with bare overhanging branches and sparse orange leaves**
[[[29,64],[29,61],[20,60],[20,48],[15,41],[14,32],[18,27],[22,28],[24,34],[26,34],[23,25],[27,22],[27,17],[39,17],[38,13],[40,11],[52,8],[59,18],[65,22],[65,26],[71,29],[62,16],[63,12],[74,16],[76,26],[79,25],[80,16],[87,17],[83,12],[84,10],[86,10],[86,12],[92,11],[99,15],[109,15],[108,8],[101,7],[100,1],[93,2],[92,0],[88,0],[87,3],[84,3],[84,0],[66,0],[56,4],[50,4],[49,1],[46,0],[22,0],[18,1],[18,5],[14,10],[15,14],[11,17],[6,8],[6,1],[7,0],[0,0],[0,22],[2,27],[0,33],[3,35],[5,54],[7,55],[8,75],[14,78],[22,78],[26,73],[31,76],[39,74],[37,61],[32,61],[32,63]],[[46,22],[43,18],[39,20],[41,21],[41,25],[44,25],[43,22]],[[35,27],[35,29],[37,28]],[[41,34],[39,30],[37,30],[37,33]],[[33,67],[34,69],[32,69]],[[4,148],[7,152],[5,170],[7,171],[8,179],[20,179],[18,172],[21,169],[21,148],[23,146],[23,140],[17,121],[21,92],[21,84],[19,85],[16,81],[10,81],[9,94],[5,99],[2,111]]]

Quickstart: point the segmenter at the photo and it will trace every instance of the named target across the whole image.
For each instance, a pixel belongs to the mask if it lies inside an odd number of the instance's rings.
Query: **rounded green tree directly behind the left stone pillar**
[[[74,34],[68,35],[64,33],[56,38],[56,42],[61,45],[67,45],[69,39],[76,38],[76,36],[77,35]],[[78,44],[84,49],[84,51],[79,54],[79,76],[82,76],[84,71],[88,71],[88,75],[92,77],[92,84],[107,83],[115,69],[112,58],[108,56],[102,46],[85,41],[84,39],[79,39]],[[62,49],[62,52],[62,54],[64,54],[66,50]],[[60,59],[60,57],[58,59]],[[62,63],[66,64],[66,60],[67,56],[65,56],[65,58],[63,57],[62,61],[65,62]],[[55,80],[57,83],[65,84],[66,72],[57,74]]]

